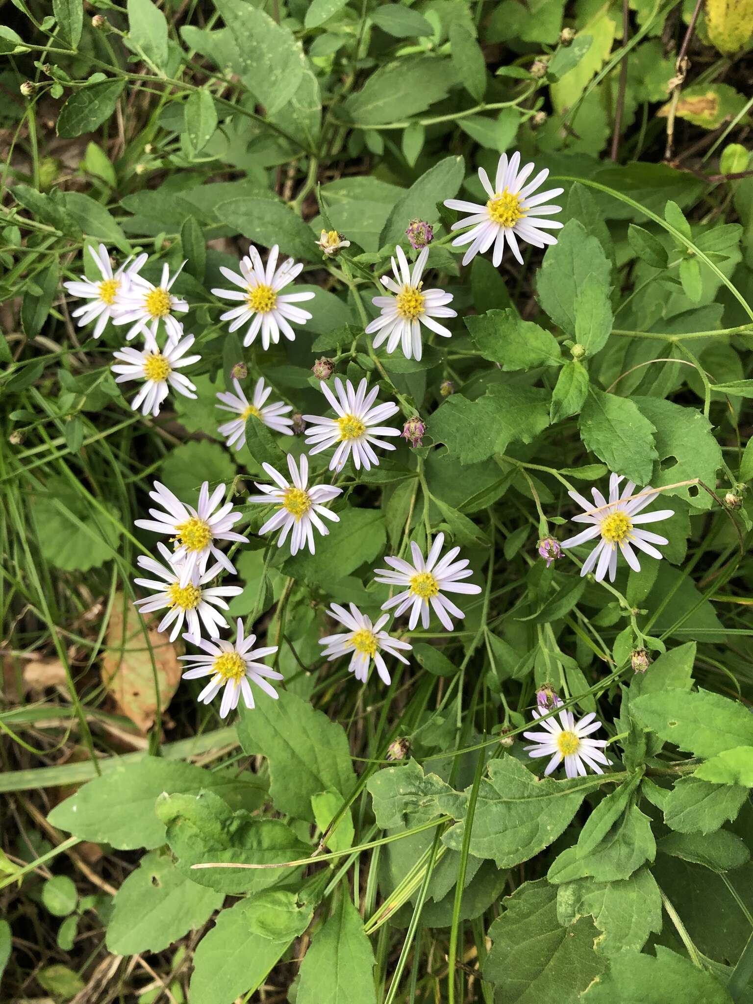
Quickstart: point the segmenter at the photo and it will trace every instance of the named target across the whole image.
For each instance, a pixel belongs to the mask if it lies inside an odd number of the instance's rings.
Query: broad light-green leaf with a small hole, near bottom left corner
[[[169,854],[153,850],[144,855],[112,901],[107,949],[113,955],[162,952],[206,924],[224,899],[224,893],[203,889],[187,878]]]

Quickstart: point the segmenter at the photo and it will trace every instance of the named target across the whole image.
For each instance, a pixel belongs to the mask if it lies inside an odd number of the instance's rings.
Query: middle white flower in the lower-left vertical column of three
[[[152,596],[137,599],[134,605],[139,608],[141,613],[151,613],[153,610],[170,607],[157,630],[167,631],[173,624],[173,631],[170,635],[171,642],[175,642],[178,638],[184,620],[187,621],[190,633],[197,638],[202,636],[202,623],[210,638],[219,638],[220,630],[229,628],[230,624],[216,607],[220,606],[223,610],[227,610],[228,604],[223,596],[239,595],[243,592],[241,586],[217,585],[205,588],[207,582],[211,582],[220,571],[219,564],[212,565],[195,581],[181,585],[179,563],[174,561],[173,555],[162,541],[158,543],[157,547],[165,558],[166,564],[160,564],[159,561],[147,557],[145,554],[140,554],[137,561],[140,568],[144,568],[145,571],[158,577],[134,579],[137,585],[143,585],[146,589],[156,591]]]

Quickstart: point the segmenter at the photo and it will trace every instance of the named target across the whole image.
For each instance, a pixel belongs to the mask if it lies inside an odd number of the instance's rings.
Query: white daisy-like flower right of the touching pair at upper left
[[[225,278],[240,286],[240,289],[212,290],[215,296],[241,301],[241,306],[220,314],[220,320],[232,321],[230,331],[243,327],[246,321],[249,321],[243,344],[250,345],[261,331],[261,344],[265,351],[269,348],[270,342],[277,344],[280,340],[280,331],[290,341],[295,340],[295,331],[290,326],[291,321],[294,324],[305,324],[311,319],[311,314],[307,310],[301,310],[294,304],[312,299],[314,296],[312,292],[284,294],[281,292],[300,274],[303,265],[300,262],[296,265],[292,258],[286,258],[277,268],[279,253],[280,249],[275,244],[269,252],[265,268],[259,252],[252,244],[248,249],[248,255],[240,260],[240,275],[230,268],[225,268],[224,265],[220,266]]]

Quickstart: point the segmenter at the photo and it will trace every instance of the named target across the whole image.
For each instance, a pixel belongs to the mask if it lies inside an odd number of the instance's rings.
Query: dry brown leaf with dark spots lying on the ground
[[[176,647],[168,641],[167,635],[160,635],[151,626],[148,631],[152,646],[150,653],[143,630],[146,625],[147,621],[142,619],[131,600],[117,593],[107,624],[107,649],[101,666],[102,683],[119,711],[142,732],[155,723],[157,689],[164,712],[181,680]]]

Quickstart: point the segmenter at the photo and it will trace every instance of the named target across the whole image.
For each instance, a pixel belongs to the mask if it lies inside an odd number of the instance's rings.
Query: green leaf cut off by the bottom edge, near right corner
[[[657,945],[656,959],[626,949],[609,960],[609,972],[582,994],[583,1004],[731,1004],[713,976],[668,948]]]

